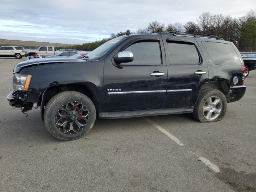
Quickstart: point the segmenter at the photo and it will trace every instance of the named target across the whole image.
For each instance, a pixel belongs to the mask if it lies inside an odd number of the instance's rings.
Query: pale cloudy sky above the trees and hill
[[[255,0],[0,0],[0,38],[83,44],[148,22],[196,21],[202,12],[244,16]]]

